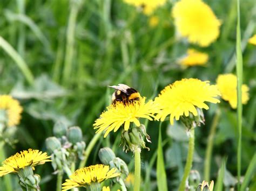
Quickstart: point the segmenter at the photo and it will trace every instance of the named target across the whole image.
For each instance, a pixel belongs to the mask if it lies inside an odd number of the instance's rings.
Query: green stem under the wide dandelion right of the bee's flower
[[[190,175],[190,170],[193,162],[193,153],[194,153],[194,128],[190,130],[190,139],[188,142],[188,152],[187,152],[187,161],[184,169],[183,178],[179,185],[179,191],[184,191],[186,188],[186,180],[188,175]]]

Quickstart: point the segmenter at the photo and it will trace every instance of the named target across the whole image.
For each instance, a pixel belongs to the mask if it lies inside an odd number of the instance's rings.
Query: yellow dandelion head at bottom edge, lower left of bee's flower
[[[75,187],[86,187],[91,183],[100,183],[119,175],[117,168],[109,169],[109,166],[106,165],[91,165],[77,169],[70,175],[70,179],[66,179],[66,182],[62,184],[62,189],[69,190]]]

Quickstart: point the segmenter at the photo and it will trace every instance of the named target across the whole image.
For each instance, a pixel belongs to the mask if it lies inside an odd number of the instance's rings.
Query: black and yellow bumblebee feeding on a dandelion
[[[123,104],[131,103],[134,100],[139,101],[141,96],[139,92],[125,84],[119,83],[118,86],[109,86],[116,89],[112,94],[112,104],[123,102]]]

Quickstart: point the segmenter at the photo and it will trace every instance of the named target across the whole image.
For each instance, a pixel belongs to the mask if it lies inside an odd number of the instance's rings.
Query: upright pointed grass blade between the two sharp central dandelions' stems
[[[157,147],[157,187],[158,190],[167,191],[166,173],[164,167],[164,154],[162,147],[161,138],[161,122],[159,124],[159,136],[158,136],[158,147]]]

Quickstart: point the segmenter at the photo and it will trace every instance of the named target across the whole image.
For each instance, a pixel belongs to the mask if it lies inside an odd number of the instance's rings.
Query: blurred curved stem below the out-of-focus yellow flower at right
[[[211,129],[210,129],[210,135],[207,139],[207,147],[205,152],[205,164],[204,164],[204,180],[210,181],[210,173],[211,173],[211,159],[212,159],[212,148],[213,148],[213,141],[215,137],[215,132],[217,129],[217,125],[220,118],[220,109],[218,108],[215,112]]]

